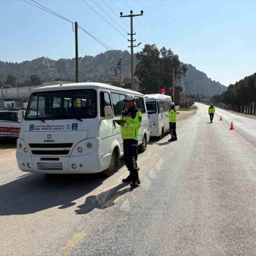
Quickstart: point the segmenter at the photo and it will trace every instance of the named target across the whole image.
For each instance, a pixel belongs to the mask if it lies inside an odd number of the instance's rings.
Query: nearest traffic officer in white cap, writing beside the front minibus
[[[137,157],[142,113],[136,107],[133,95],[126,94],[124,102],[126,110],[122,112],[120,125],[122,139],[124,141],[125,165],[130,174],[126,179],[123,179],[122,182],[131,182],[131,187],[136,187],[140,184]]]

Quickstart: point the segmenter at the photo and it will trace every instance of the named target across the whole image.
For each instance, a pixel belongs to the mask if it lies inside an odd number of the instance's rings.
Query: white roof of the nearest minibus
[[[120,87],[116,87],[113,85],[103,84],[103,83],[94,83],[94,82],[86,82],[86,83],[72,83],[72,84],[56,84],[56,85],[49,85],[49,86],[43,86],[38,87],[32,90],[32,93],[35,92],[43,92],[43,91],[52,91],[52,90],[76,90],[76,89],[84,89],[84,88],[104,88],[106,90],[116,90],[119,92],[122,92],[124,94],[131,93],[136,94],[140,96],[144,96],[142,93],[128,90]]]

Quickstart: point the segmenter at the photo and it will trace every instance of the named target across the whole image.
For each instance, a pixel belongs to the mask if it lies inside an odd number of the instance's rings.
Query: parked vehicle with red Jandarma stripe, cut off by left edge
[[[17,119],[18,111],[0,111],[0,138],[18,138],[21,123]]]

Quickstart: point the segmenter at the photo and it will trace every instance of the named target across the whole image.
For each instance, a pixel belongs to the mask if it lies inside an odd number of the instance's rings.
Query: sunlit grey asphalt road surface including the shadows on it
[[[197,106],[176,142],[140,154],[133,190],[124,166],[105,179],[0,163],[0,255],[255,255],[256,120],[216,108],[209,123]]]

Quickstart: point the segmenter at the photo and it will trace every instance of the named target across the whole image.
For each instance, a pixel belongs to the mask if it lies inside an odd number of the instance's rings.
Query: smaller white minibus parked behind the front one
[[[145,101],[148,112],[150,136],[162,139],[164,133],[169,130],[169,118],[167,110],[172,97],[164,94],[146,94]]]

